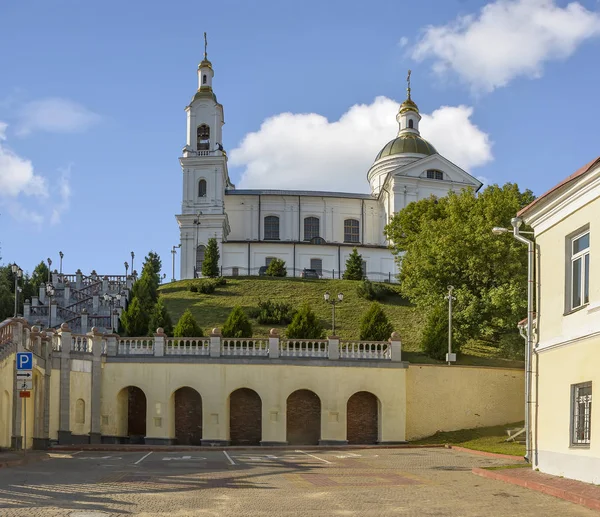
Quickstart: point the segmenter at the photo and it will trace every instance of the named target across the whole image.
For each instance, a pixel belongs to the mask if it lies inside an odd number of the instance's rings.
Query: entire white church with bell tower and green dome
[[[463,188],[477,191],[482,185],[421,137],[409,73],[407,98],[396,116],[398,134],[366,171],[370,194],[236,189],[227,171],[223,105],[213,77],[205,49],[198,90],[185,108],[187,137],[179,159],[183,200],[176,217],[182,279],[201,276],[208,239],[215,237],[224,276],[259,275],[279,258],[291,277],[314,277],[316,272],[322,278],[341,278],[357,248],[367,278],[394,282],[398,265],[384,235],[392,216],[412,201]]]

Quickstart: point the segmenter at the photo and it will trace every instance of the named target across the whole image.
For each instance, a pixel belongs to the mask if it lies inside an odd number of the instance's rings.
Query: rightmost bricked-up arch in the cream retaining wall
[[[359,391],[346,405],[346,439],[349,444],[379,441],[379,399],[369,391]]]

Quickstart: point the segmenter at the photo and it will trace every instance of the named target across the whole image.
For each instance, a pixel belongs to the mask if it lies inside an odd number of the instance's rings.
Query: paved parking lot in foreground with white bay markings
[[[2,517],[597,516],[447,449],[55,453],[0,470]]]

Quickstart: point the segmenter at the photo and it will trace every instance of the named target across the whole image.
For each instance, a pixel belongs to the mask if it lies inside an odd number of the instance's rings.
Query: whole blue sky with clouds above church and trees
[[[367,192],[410,68],[422,133],[442,154],[540,194],[600,154],[599,11],[597,0],[0,0],[2,262],[31,271],[63,251],[65,271],[118,274],[130,251],[138,269],[153,249],[170,278],[203,31],[238,186]]]

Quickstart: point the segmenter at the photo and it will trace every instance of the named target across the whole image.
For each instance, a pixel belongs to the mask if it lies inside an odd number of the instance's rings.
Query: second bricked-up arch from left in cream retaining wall
[[[175,439],[178,445],[202,442],[202,396],[194,388],[182,386],[173,392]]]

